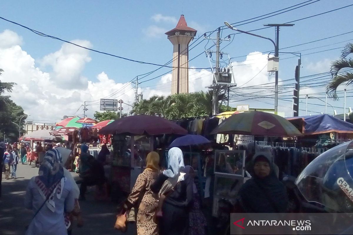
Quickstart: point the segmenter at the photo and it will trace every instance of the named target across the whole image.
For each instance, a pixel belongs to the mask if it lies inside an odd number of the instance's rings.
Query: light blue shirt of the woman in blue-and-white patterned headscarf
[[[44,200],[39,193],[35,177],[29,181],[24,204],[27,209],[31,209],[33,213],[37,212]],[[70,212],[74,207],[74,190],[70,180],[65,180],[64,188],[62,189],[61,198],[54,196],[55,211],[49,210],[46,204],[38,212],[36,217],[30,223],[26,235],[65,235],[67,234],[64,221],[64,206],[65,211]]]

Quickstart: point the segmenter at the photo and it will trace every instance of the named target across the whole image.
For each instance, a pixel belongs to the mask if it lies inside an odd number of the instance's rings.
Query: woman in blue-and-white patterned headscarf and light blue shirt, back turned
[[[64,212],[74,207],[72,183],[64,176],[58,150],[49,150],[39,168],[38,175],[29,181],[24,204],[34,212],[26,235],[67,234]]]

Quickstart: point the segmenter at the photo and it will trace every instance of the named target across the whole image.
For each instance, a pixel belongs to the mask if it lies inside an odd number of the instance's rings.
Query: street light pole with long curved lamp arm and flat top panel
[[[278,52],[279,52],[279,33],[280,33],[280,26],[293,26],[294,24],[267,24],[264,26],[269,26],[269,27],[276,27],[276,43],[271,39],[271,38],[267,38],[267,37],[263,37],[254,33],[250,33],[250,32],[246,32],[243,30],[239,30],[237,28],[234,28],[231,24],[229,24],[227,21],[224,22],[224,24],[231,30],[235,30],[241,33],[246,33],[255,37],[259,37],[259,38],[264,38],[267,39],[269,41],[271,41],[271,43],[273,43],[273,45],[275,46],[275,57],[279,57],[278,56]],[[275,114],[277,115],[277,107],[278,107],[278,70],[275,71]]]

